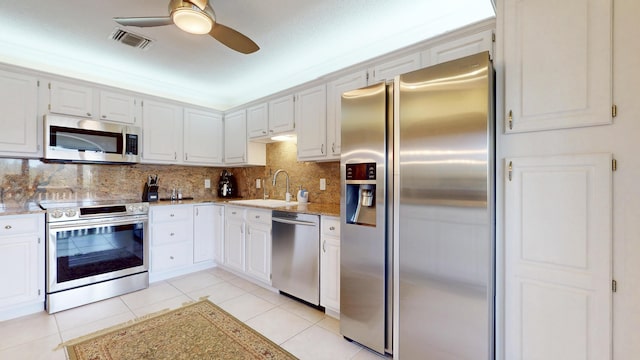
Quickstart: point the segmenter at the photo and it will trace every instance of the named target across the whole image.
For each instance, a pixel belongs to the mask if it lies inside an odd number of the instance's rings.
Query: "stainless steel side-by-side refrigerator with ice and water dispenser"
[[[402,359],[493,358],[493,81],[483,52],[343,94],[345,338]]]

